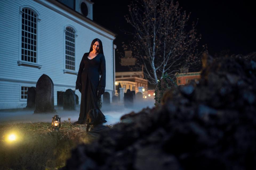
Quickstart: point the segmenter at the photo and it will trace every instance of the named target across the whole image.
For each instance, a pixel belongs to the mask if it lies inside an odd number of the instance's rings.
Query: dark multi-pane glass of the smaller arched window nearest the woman
[[[71,27],[66,27],[65,32],[65,69],[75,71],[75,31]]]

